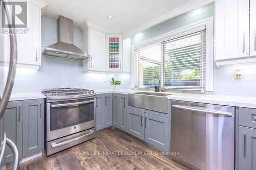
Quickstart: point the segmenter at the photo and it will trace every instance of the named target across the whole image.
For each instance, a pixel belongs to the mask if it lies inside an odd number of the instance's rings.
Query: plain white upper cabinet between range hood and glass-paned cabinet
[[[105,71],[105,33],[94,28],[83,31],[83,50],[91,58],[83,60],[83,71]]]

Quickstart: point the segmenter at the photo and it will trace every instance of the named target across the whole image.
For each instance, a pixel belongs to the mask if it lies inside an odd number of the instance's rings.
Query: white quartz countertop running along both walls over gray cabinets
[[[128,93],[135,93],[135,92],[141,92],[141,91],[145,91],[145,90],[132,90],[132,89],[95,90],[95,92],[97,94],[104,94],[104,93],[128,94]],[[175,92],[162,92],[162,93],[170,94],[170,95],[167,95],[167,98],[169,100],[179,100],[179,101],[187,101],[187,102],[199,102],[199,103],[208,103],[208,104],[216,104],[216,105],[256,108],[256,98],[253,98],[253,97],[175,93]],[[45,95],[43,95],[41,92],[14,93],[14,94],[11,94],[9,101],[33,100],[33,99],[44,99],[44,98],[45,98]]]

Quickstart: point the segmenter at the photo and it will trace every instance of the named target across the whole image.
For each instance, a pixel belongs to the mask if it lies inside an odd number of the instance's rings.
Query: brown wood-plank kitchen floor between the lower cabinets
[[[24,162],[20,169],[188,169],[155,152],[119,130],[109,128],[98,132],[96,138],[65,151]]]

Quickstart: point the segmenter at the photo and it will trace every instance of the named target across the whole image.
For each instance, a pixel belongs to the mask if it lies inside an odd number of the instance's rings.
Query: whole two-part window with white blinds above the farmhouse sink
[[[206,29],[157,44],[137,48],[136,86],[161,84],[176,89],[205,90]]]

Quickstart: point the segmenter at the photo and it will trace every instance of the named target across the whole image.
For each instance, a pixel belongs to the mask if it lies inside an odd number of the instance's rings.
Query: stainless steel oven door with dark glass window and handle
[[[47,141],[94,128],[95,98],[47,104]]]

